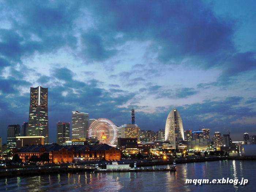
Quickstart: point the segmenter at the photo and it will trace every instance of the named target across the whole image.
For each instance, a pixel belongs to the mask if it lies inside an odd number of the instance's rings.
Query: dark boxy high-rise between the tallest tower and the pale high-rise
[[[69,133],[70,123],[59,122],[57,123],[57,144],[63,144],[70,139]]]

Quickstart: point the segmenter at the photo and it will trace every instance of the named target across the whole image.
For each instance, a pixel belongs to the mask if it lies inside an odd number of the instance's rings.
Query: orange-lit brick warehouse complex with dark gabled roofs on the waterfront
[[[49,153],[50,163],[66,163],[74,160],[120,160],[121,151],[107,144],[94,145],[71,145],[60,146],[59,144],[30,145],[15,149],[22,162],[28,161],[32,155],[40,157],[43,153]]]

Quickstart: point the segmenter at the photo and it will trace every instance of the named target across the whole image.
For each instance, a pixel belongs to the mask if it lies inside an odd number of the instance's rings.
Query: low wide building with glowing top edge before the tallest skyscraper
[[[25,145],[43,145],[44,136],[19,136],[16,137],[16,148],[22,148]]]

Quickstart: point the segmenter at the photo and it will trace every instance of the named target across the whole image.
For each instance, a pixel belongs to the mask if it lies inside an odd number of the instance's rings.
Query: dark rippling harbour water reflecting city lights
[[[155,166],[155,167],[168,167]],[[256,161],[212,161],[177,164],[177,172],[61,173],[0,179],[11,191],[256,191]],[[188,179],[239,179],[249,184],[185,184]]]

